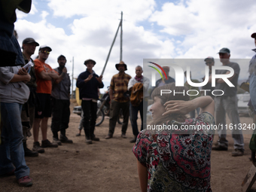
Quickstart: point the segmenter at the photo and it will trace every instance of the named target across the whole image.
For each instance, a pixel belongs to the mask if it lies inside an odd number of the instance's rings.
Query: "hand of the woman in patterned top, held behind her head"
[[[172,100],[166,102],[163,106],[166,107],[166,114],[187,114],[191,111],[191,101],[183,101],[183,100]]]

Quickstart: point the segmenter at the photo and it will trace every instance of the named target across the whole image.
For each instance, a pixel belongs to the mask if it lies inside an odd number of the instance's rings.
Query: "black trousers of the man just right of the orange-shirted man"
[[[58,132],[66,135],[66,129],[69,127],[70,116],[70,101],[64,99],[51,99],[52,105],[52,120],[50,129],[53,132],[53,137],[58,138]]]

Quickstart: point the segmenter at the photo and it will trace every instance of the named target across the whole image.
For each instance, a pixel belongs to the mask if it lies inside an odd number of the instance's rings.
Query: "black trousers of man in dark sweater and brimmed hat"
[[[82,109],[84,111],[84,133],[87,139],[93,139],[94,130],[96,124],[96,114],[97,114],[97,102],[93,100],[82,101]]]

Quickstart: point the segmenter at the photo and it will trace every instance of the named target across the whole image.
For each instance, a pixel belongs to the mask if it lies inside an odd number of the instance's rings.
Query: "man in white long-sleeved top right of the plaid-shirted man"
[[[132,140],[130,140],[130,142],[136,142],[137,136],[139,135],[138,124],[137,124],[138,112],[142,119],[141,130],[145,129],[144,127],[146,126],[146,122],[147,122],[146,111],[148,108],[149,79],[145,78],[142,75],[142,72],[143,72],[142,66],[136,66],[136,69],[135,69],[136,76],[135,76],[135,78],[131,78],[129,81],[129,84],[128,84],[128,90],[134,91],[133,90],[134,85],[142,83],[143,84],[143,94],[144,94],[142,102],[139,102],[138,105],[133,105],[132,102],[130,103],[130,120],[132,123],[133,135],[134,135],[134,138]],[[144,111],[144,113],[143,113],[143,111]]]

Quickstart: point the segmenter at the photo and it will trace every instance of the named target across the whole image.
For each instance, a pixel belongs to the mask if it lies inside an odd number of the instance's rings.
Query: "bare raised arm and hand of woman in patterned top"
[[[215,102],[211,96],[200,96],[190,101],[172,100],[164,104],[166,106],[166,114],[187,114],[196,108],[201,108],[201,112],[209,112],[214,116]]]

